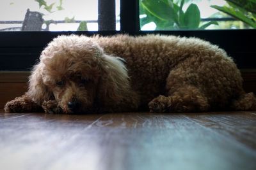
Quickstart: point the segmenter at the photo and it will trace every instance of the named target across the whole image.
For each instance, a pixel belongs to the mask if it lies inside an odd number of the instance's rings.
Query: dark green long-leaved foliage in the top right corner
[[[256,0],[225,0],[225,6],[211,6],[256,28]]]

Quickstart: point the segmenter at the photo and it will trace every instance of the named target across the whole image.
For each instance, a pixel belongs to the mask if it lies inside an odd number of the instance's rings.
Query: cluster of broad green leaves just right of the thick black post
[[[186,11],[182,10],[186,1],[173,0],[140,0],[141,27],[150,22],[156,24],[157,30],[166,29],[205,29],[218,22],[207,22],[200,25],[201,15],[196,4],[189,4]]]

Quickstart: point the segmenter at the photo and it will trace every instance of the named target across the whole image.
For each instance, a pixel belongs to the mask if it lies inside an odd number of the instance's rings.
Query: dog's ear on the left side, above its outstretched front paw
[[[42,72],[42,63],[36,64],[32,70],[31,76],[29,76],[29,89],[26,93],[29,98],[39,105],[53,98],[52,92],[43,82]]]

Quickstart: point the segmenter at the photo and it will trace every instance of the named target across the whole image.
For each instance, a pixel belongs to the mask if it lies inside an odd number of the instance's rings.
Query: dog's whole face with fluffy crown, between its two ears
[[[64,113],[90,111],[97,99],[103,53],[90,39],[62,39],[63,45],[45,50],[42,80]]]

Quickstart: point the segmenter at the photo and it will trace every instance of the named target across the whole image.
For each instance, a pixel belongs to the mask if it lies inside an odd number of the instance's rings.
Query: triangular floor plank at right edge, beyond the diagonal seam
[[[185,117],[256,150],[256,115],[253,112],[206,113]]]

